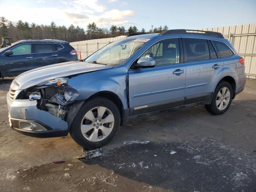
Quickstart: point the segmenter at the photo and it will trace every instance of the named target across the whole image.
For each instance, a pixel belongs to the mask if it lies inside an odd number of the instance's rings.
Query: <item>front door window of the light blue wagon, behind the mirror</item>
[[[156,66],[175,64],[180,62],[180,48],[178,38],[170,38],[152,45],[142,54],[142,57],[151,57],[156,61]]]

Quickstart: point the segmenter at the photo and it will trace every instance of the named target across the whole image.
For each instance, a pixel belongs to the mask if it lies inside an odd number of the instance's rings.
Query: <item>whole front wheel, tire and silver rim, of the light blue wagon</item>
[[[93,149],[111,140],[119,126],[117,106],[106,98],[97,97],[81,107],[72,123],[70,135],[80,146]]]

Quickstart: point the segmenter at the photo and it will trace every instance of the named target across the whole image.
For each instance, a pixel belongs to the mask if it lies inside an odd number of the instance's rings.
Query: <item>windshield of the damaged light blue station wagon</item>
[[[86,59],[86,62],[104,64],[104,65],[120,65],[130,58],[139,48],[148,40],[145,38],[125,38],[98,50]]]

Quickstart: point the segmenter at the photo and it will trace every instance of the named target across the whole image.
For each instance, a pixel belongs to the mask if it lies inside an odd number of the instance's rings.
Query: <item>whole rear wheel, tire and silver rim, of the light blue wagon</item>
[[[208,112],[212,114],[222,114],[226,112],[232,101],[233,90],[228,82],[220,82],[215,89],[212,103],[205,105]]]

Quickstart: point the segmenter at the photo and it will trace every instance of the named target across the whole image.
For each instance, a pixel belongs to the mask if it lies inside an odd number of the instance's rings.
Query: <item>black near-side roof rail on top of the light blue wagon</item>
[[[167,35],[167,34],[197,34],[197,35],[206,35],[206,36],[214,36],[214,37],[220,37],[224,38],[223,35],[219,32],[213,32],[213,31],[202,31],[202,30],[190,30],[190,29],[172,29],[172,30],[166,30],[158,35]]]

